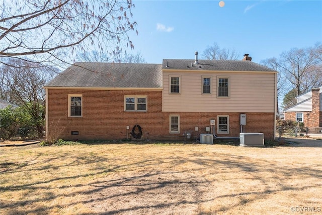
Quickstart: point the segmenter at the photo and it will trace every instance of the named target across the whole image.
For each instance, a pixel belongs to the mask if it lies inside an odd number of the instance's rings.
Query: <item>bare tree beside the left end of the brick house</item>
[[[45,91],[42,87],[58,73],[58,69],[14,58],[7,59],[0,69],[2,99],[24,106],[38,135],[42,135],[45,119]]]

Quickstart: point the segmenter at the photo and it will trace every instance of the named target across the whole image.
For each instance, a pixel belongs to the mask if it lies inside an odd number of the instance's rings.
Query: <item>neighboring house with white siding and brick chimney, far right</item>
[[[296,97],[297,104],[286,108],[285,119],[303,122],[311,132],[322,130],[322,85]]]

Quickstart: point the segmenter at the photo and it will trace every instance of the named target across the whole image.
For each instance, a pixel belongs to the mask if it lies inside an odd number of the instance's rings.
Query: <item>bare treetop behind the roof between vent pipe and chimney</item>
[[[217,43],[213,43],[212,46],[207,46],[202,56],[207,60],[236,60],[239,53],[235,49],[220,49]]]

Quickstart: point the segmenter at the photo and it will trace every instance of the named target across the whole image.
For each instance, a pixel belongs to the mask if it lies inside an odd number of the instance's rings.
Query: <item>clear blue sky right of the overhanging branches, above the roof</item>
[[[193,59],[216,42],[259,63],[322,42],[322,1],[224,1],[222,8],[219,2],[133,0],[133,53],[147,63]]]

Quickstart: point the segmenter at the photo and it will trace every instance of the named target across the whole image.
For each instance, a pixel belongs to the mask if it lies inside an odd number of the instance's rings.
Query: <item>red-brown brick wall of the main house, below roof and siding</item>
[[[68,117],[68,94],[83,95],[83,117]],[[124,111],[125,95],[147,96],[147,112]],[[240,113],[163,112],[162,91],[48,89],[47,99],[47,135],[63,139],[125,139],[135,124],[142,127],[144,138],[148,133],[149,139],[183,139],[185,131],[190,131],[194,138],[206,133],[210,119],[216,120],[217,130],[218,115],[229,115],[229,134],[216,131],[217,136],[238,137],[240,132]],[[170,134],[170,114],[180,115],[180,133]],[[261,132],[265,139],[274,138],[274,113],[246,114],[245,132]],[[71,131],[78,131],[78,135],[71,135]]]

